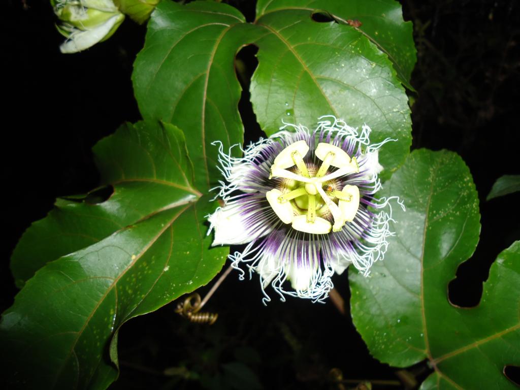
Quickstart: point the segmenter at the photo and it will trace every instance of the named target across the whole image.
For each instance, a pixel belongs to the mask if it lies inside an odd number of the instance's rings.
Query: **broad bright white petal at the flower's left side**
[[[270,228],[260,232],[261,234],[252,235],[246,229],[243,223],[243,216],[239,213],[238,206],[224,206],[217,209],[211,214],[207,220],[210,222],[210,230],[215,230],[215,238],[212,246],[215,245],[238,245],[245,244],[257,239],[260,236],[265,236],[270,232]]]

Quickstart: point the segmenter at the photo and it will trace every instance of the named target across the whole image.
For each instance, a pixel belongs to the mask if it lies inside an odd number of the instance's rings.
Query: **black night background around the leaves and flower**
[[[252,2],[229,3],[253,18]],[[5,6],[2,311],[17,291],[8,266],[23,231],[46,215],[56,197],[94,188],[98,174],[90,149],[123,121],[139,120],[130,77],[145,36],[144,27],[126,20],[107,42],[62,55],[48,3],[9,0]],[[479,193],[480,242],[449,291],[452,303],[474,306],[492,261],[520,238],[520,194],[485,201],[498,177],[520,174],[520,6],[514,0],[404,0],[402,6],[418,49],[411,81],[417,90],[411,94],[413,148],[458,152]],[[250,54],[243,59],[254,65]],[[244,94],[242,115],[254,130],[247,100]],[[348,303],[347,278],[336,276],[334,283]],[[334,368],[347,380],[397,379],[396,369],[370,357],[348,311],[344,317],[330,303],[276,298],[266,308],[258,287],[256,279],[239,282],[231,274],[206,306],[219,313],[212,327],[178,317],[175,304],[129,321],[119,337],[121,377],[113,387],[200,388],[228,381],[225,388],[235,381],[254,388],[240,365],[264,388],[340,388],[330,381]],[[165,376],[168,367],[185,369]],[[237,372],[242,380],[233,379]],[[410,372],[422,380],[428,369],[419,364]]]

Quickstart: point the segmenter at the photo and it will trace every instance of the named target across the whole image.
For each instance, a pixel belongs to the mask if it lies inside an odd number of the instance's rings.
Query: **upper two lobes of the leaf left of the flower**
[[[49,215],[31,225],[11,257],[19,287],[50,261],[92,245],[175,201],[201,196],[192,185],[183,133],[170,124],[125,124],[94,147],[108,200],[58,199]]]

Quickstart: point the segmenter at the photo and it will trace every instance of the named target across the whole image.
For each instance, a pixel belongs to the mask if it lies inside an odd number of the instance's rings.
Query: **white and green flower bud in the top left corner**
[[[77,53],[110,38],[124,20],[112,0],[51,0],[62,22],[58,31],[67,38],[61,53]]]

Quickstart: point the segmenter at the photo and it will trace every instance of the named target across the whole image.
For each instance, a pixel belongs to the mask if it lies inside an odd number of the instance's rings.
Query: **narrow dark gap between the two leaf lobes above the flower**
[[[249,92],[251,77],[258,66],[257,52],[257,46],[247,45],[242,47],[235,57],[235,73],[242,87],[242,94],[238,102],[238,112],[245,128],[244,145],[248,145],[249,142],[256,142],[259,137],[265,136],[262,128],[256,122],[256,115],[251,104],[251,93]]]

